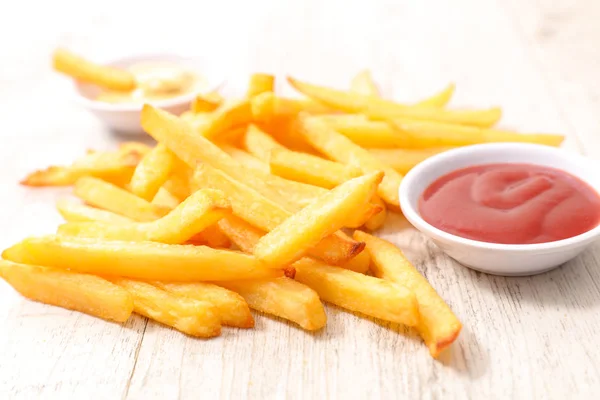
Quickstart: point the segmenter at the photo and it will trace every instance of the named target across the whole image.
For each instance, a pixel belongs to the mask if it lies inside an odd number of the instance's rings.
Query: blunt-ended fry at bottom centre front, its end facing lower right
[[[293,279],[282,277],[217,284],[239,293],[251,308],[295,322],[303,329],[315,331],[327,322],[317,293]]]

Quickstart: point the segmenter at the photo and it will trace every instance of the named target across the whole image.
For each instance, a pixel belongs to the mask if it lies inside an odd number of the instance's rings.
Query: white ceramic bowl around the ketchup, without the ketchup
[[[533,275],[549,271],[577,256],[600,237],[600,226],[597,226],[581,235],[556,242],[496,244],[444,232],[421,218],[418,200],[433,181],[457,169],[491,163],[526,163],[558,168],[579,177],[600,193],[600,163],[583,156],[534,144],[480,144],[438,154],[413,168],[400,185],[404,216],[456,261],[495,275]]]

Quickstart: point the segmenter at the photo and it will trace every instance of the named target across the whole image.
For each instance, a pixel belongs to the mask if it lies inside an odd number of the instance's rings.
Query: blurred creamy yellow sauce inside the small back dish
[[[128,92],[106,90],[101,92],[96,100],[107,103],[144,103],[171,99],[206,88],[203,77],[173,63],[138,63],[130,66],[128,70],[135,75],[135,89]]]

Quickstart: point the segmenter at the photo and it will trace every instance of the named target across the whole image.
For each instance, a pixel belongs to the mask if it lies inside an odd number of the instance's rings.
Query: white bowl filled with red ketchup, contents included
[[[600,237],[600,163],[553,147],[493,143],[433,156],[400,186],[405,217],[446,254],[532,275]]]

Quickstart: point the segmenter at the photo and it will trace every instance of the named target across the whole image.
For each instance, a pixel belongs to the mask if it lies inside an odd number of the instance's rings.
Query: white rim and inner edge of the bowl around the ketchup
[[[600,236],[600,224],[595,228],[567,239],[533,244],[502,244],[467,239],[448,233],[426,222],[418,211],[418,201],[423,191],[436,179],[458,169],[494,163],[526,163],[553,167],[576,176],[587,183],[600,196],[600,178],[593,169],[600,164],[582,155],[554,147],[529,143],[485,143],[465,146],[437,154],[411,169],[400,184],[400,206],[406,219],[427,236],[478,249],[506,250],[511,252],[559,251],[566,247],[591,242]],[[589,171],[589,172],[586,172]],[[600,176],[600,174],[596,174]]]

